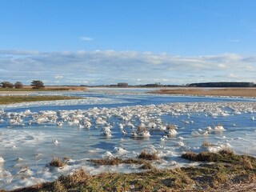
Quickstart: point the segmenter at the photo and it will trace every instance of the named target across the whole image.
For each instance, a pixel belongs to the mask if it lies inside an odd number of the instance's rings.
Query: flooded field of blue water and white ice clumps
[[[136,158],[142,150],[161,157],[154,163],[158,168],[190,166],[179,158],[187,150],[230,147],[256,155],[254,99],[146,91],[94,89],[72,93],[84,97],[77,101],[0,106],[0,189],[52,181],[79,168],[90,174],[136,172],[136,165],[95,166],[88,159]],[[204,141],[214,146],[202,146]],[[67,166],[49,166],[54,157],[68,157]]]

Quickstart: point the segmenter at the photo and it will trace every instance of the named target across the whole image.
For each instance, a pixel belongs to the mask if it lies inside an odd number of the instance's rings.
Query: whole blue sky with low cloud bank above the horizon
[[[0,0],[0,82],[256,83],[254,0]]]

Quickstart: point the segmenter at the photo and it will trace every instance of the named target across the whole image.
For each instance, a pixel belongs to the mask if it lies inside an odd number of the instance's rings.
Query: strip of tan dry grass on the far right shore
[[[238,97],[256,97],[256,88],[223,88],[223,89],[198,89],[198,88],[180,88],[180,89],[162,89],[156,90],[155,94],[184,94],[201,96],[238,96]]]

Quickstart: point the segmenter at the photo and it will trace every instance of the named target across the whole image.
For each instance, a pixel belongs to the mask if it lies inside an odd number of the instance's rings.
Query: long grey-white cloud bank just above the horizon
[[[46,85],[131,85],[161,82],[256,82],[256,56],[175,56],[136,51],[38,52],[0,50],[0,82],[34,79]]]

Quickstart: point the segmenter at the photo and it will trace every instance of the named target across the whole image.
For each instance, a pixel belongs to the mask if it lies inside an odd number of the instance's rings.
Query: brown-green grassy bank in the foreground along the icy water
[[[249,189],[249,184],[256,181],[256,158],[237,155],[230,150],[222,150],[218,154],[188,152],[182,158],[191,161],[214,162],[200,166],[175,168],[170,170],[152,169],[142,173],[118,174],[103,173],[91,176],[84,170],[74,174],[61,176],[54,182],[46,182],[13,191],[232,191]],[[143,160],[150,161],[150,160]],[[118,163],[141,163],[122,161],[92,161],[101,165],[117,165]],[[238,188],[234,186],[238,185]],[[254,189],[255,186],[252,186]],[[230,189],[230,190],[229,190]]]

